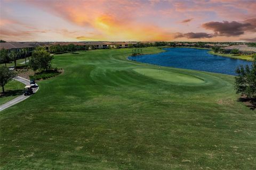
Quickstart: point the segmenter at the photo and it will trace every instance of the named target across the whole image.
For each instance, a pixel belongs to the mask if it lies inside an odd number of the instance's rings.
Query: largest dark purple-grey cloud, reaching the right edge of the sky
[[[246,31],[256,31],[256,19],[248,19],[243,22],[207,22],[202,27],[214,31],[216,36],[239,36],[243,35]]]

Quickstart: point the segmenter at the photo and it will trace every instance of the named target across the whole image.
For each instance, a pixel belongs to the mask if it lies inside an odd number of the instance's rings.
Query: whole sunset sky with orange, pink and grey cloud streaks
[[[256,0],[0,0],[7,41],[255,41]]]

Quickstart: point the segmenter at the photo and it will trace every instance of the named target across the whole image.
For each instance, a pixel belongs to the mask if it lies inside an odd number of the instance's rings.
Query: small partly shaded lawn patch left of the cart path
[[[19,81],[16,81],[16,80],[9,81],[4,86],[5,94],[3,96],[1,95],[0,97],[0,105],[3,105],[7,101],[12,100],[19,95],[22,95],[24,87],[25,87],[24,84]],[[1,93],[3,92],[2,87],[0,92]]]

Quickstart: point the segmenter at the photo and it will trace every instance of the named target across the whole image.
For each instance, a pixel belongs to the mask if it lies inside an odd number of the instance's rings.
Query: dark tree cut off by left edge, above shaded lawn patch
[[[9,82],[12,78],[16,77],[16,73],[10,71],[5,66],[0,66],[0,86],[2,86],[2,90],[4,92],[4,85]]]

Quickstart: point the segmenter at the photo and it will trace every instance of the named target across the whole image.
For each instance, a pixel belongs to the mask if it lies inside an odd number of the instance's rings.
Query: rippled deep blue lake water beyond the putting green
[[[181,69],[191,69],[236,75],[239,65],[251,65],[250,61],[238,60],[209,54],[207,49],[196,48],[164,48],[163,53],[130,56],[130,60],[142,63],[171,66]]]

